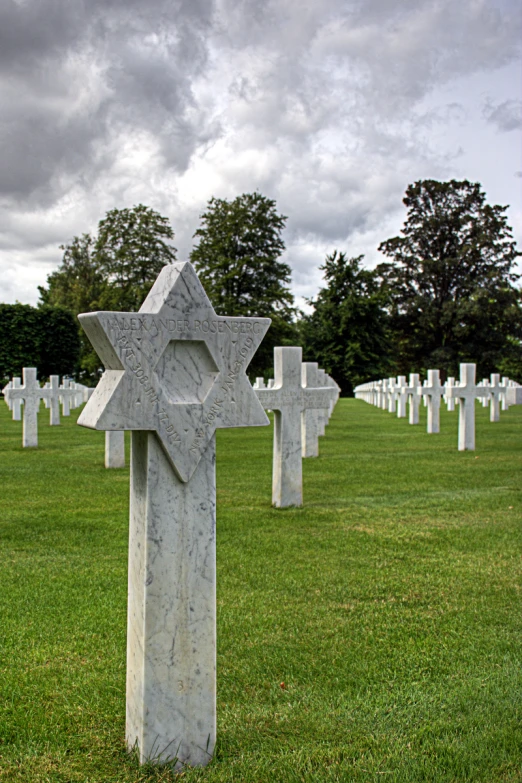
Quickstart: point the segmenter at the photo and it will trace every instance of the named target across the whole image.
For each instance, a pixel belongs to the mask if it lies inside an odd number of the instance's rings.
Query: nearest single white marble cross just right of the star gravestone
[[[306,410],[328,407],[334,389],[303,388],[301,348],[274,348],[272,389],[257,389],[266,410],[274,411],[272,503],[278,508],[303,505],[301,417]]]

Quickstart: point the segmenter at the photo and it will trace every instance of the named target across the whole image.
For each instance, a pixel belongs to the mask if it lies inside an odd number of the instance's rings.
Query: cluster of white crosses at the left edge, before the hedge
[[[51,375],[49,382],[42,387],[38,381],[36,367],[24,367],[22,378],[23,383],[20,378],[13,378],[2,391],[7,405],[12,411],[13,419],[15,421],[23,420],[22,446],[35,448],[38,446],[40,401],[44,400],[45,406],[50,409],[51,426],[57,426],[60,424],[60,403],[62,404],[62,415],[69,416],[70,409],[80,404],[80,397],[83,399],[83,396],[88,394],[88,390],[86,386],[70,382],[67,378],[63,379],[60,386],[58,375]]]

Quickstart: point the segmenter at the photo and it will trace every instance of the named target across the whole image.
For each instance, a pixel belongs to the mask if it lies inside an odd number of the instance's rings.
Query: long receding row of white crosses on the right
[[[500,406],[507,410],[510,404],[519,404],[518,387],[509,378],[502,378],[493,373],[491,378],[484,379],[482,383],[475,382],[476,365],[471,363],[460,365],[460,380],[448,378],[446,384],[441,384],[439,370],[428,370],[428,377],[421,385],[417,373],[411,373],[409,383],[405,376],[386,378],[379,381],[363,383],[355,389],[355,396],[388,410],[397,412],[399,418],[406,416],[406,405],[409,405],[410,424],[419,423],[419,406],[421,399],[427,406],[427,431],[437,433],[440,431],[440,405],[441,398],[446,400],[448,410],[455,410],[455,403],[459,404],[459,451],[473,451],[475,449],[475,400],[482,399],[483,404],[490,405],[490,420],[499,421]],[[522,402],[522,399],[520,400]]]

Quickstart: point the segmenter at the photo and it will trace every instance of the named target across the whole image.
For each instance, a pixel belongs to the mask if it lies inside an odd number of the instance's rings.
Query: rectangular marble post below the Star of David
[[[183,483],[156,435],[132,432],[126,739],[141,763],[214,750],[215,474],[215,436]]]

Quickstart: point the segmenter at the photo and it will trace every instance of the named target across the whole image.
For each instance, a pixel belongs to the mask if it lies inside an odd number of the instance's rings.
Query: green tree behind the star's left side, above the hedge
[[[176,260],[168,218],[138,204],[113,209],[98,224],[98,234],[82,234],[62,245],[62,263],[39,286],[40,304],[66,308],[74,316],[93,310],[138,310],[158,273]],[[79,328],[79,326],[77,327]],[[94,382],[100,360],[80,329],[79,377]]]

